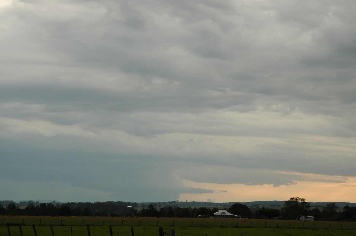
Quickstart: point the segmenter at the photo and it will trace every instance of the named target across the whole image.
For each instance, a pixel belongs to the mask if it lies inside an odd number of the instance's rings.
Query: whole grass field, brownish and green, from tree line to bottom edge
[[[87,225],[91,236],[110,236],[109,226],[112,226],[113,236],[130,236],[131,228],[136,236],[153,236],[158,235],[158,227],[163,227],[167,232],[174,229],[176,236],[356,235],[354,222],[299,220],[3,216],[0,217],[0,224],[0,236],[9,236],[7,224],[11,236],[20,236],[19,225],[24,236],[35,236],[32,225],[35,225],[38,236],[51,236],[50,225],[55,236],[88,236]]]

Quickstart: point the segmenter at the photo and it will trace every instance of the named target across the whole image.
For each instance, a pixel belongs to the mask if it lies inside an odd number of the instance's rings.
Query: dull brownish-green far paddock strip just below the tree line
[[[218,218],[154,218],[154,217],[52,217],[0,216],[0,225],[11,226],[177,226],[177,227],[240,227],[240,228],[294,228],[294,229],[355,229],[355,222],[258,220]]]

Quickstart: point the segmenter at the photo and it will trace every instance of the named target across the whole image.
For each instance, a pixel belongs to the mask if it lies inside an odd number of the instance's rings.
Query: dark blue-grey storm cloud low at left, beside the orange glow
[[[157,192],[161,200],[177,199],[179,193],[214,192],[183,186],[169,173],[179,163],[167,165],[161,160],[157,166],[152,159],[145,160],[147,156],[28,149],[10,152],[4,147],[2,150],[2,164],[7,169],[1,171],[1,178],[5,180],[69,182],[74,187],[111,192],[112,197],[132,201],[140,201],[142,194],[147,201],[158,201]],[[162,175],[166,177],[160,178]]]

